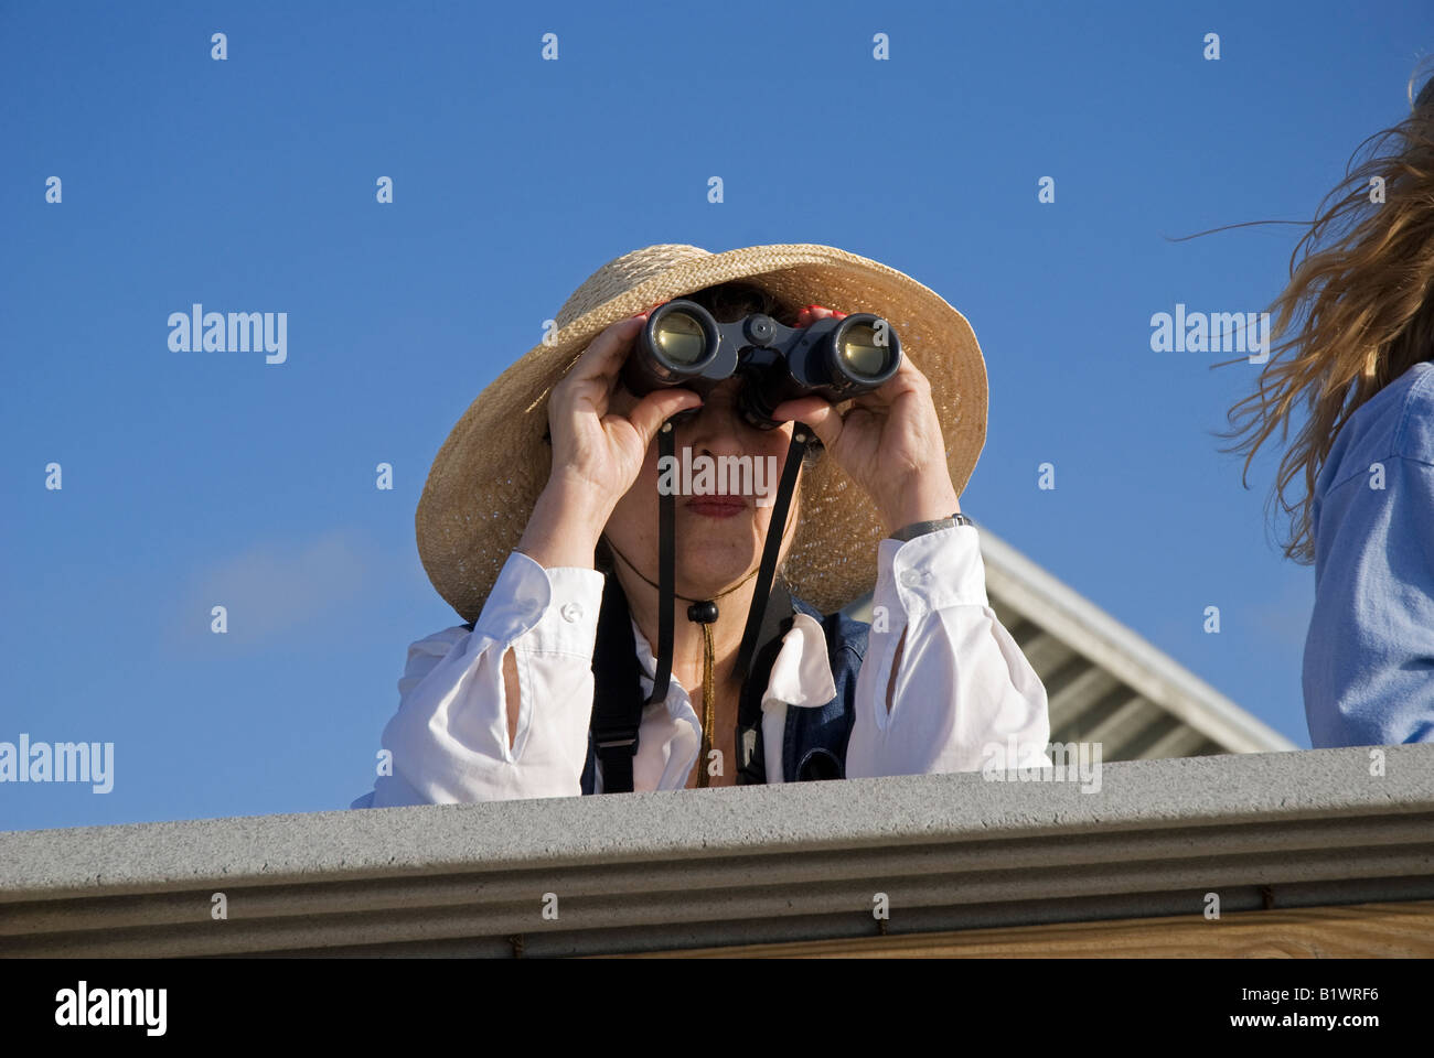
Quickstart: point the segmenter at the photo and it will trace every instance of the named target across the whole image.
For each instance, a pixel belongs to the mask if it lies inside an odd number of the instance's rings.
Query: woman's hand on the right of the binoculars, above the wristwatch
[[[804,327],[830,315],[845,314],[812,305],[802,310],[797,323]],[[773,419],[810,426],[826,454],[866,489],[889,533],[961,509],[931,383],[908,357],[880,389],[856,397],[845,416],[812,396],[783,401],[773,409]]]

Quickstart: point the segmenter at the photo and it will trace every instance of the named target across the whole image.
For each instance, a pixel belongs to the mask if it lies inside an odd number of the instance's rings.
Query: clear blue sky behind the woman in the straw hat
[[[1314,573],[1271,460],[1242,489],[1212,434],[1258,368],[1153,353],[1150,317],[1265,308],[1298,229],[1167,237],[1308,219],[1431,44],[1427,0],[0,4],[0,740],[115,743],[113,791],[6,784],[0,829],[371,788],[407,645],[457,621],[414,545],[433,456],[654,242],[942,294],[991,384],[962,509],[1308,745]],[[192,302],[285,311],[287,361],[171,351]]]

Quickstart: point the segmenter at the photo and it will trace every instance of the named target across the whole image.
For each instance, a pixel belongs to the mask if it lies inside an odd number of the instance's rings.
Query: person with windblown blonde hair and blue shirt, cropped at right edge
[[[1248,472],[1308,409],[1272,500],[1285,555],[1315,563],[1315,748],[1434,741],[1434,79],[1371,140],[1296,245],[1273,305],[1286,337],[1230,411]]]

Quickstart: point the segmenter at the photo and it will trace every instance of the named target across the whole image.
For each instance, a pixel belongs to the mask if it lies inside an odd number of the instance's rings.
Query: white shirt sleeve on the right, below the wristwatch
[[[974,526],[878,545],[856,700],[846,763],[853,778],[979,771],[992,761],[1050,767],[1045,687],[991,609]],[[1011,738],[1015,761],[1007,760]]]

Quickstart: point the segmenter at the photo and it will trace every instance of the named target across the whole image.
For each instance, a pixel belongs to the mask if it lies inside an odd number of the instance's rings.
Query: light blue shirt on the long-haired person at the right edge
[[[1311,743],[1434,741],[1434,363],[1345,423],[1315,483],[1311,529]]]

